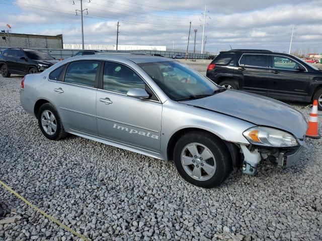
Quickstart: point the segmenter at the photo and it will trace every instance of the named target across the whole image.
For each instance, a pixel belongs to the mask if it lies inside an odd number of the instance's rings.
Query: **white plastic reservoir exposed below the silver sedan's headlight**
[[[258,152],[258,149],[251,152],[245,145],[240,145],[240,148],[244,154],[243,173],[255,175],[256,167],[262,160],[261,154]]]

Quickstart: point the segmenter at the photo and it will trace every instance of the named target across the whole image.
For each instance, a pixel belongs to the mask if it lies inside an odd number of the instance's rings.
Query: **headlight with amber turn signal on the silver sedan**
[[[296,139],[287,132],[268,127],[253,127],[243,133],[246,139],[254,144],[267,147],[295,147]]]

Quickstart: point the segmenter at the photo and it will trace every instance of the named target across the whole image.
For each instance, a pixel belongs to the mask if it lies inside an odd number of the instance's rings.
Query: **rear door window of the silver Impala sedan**
[[[76,61],[68,65],[64,82],[94,87],[100,61]]]

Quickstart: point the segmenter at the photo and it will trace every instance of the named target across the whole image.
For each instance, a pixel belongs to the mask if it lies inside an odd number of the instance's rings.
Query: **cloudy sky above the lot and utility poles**
[[[64,43],[81,43],[81,18],[75,16],[80,5],[79,0],[0,0],[0,28],[10,24],[13,33],[63,34]],[[205,5],[205,51],[231,46],[288,52],[295,25],[292,51],[322,52],[322,0],[83,0],[85,43],[115,44],[119,20],[119,44],[172,50],[174,43],[185,49],[191,21],[189,49],[197,29],[201,50]]]

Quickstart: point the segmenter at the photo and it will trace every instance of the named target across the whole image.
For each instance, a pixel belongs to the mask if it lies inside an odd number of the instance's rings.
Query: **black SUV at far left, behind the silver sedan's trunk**
[[[0,54],[0,70],[3,77],[11,74],[42,72],[59,62],[49,54],[34,49],[5,49]]]

